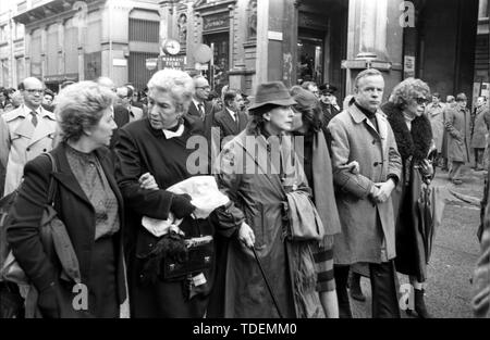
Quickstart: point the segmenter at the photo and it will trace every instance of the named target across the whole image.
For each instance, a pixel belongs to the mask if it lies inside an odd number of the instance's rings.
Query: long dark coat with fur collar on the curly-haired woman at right
[[[397,106],[387,103],[382,110],[388,115],[403,164],[402,179],[392,192],[396,218],[395,266],[399,273],[415,276],[422,282],[426,280],[428,259],[420,232],[418,207],[422,179],[415,166],[428,155],[432,144],[432,130],[425,115],[416,117],[412,122],[412,130],[408,130],[403,113]]]

